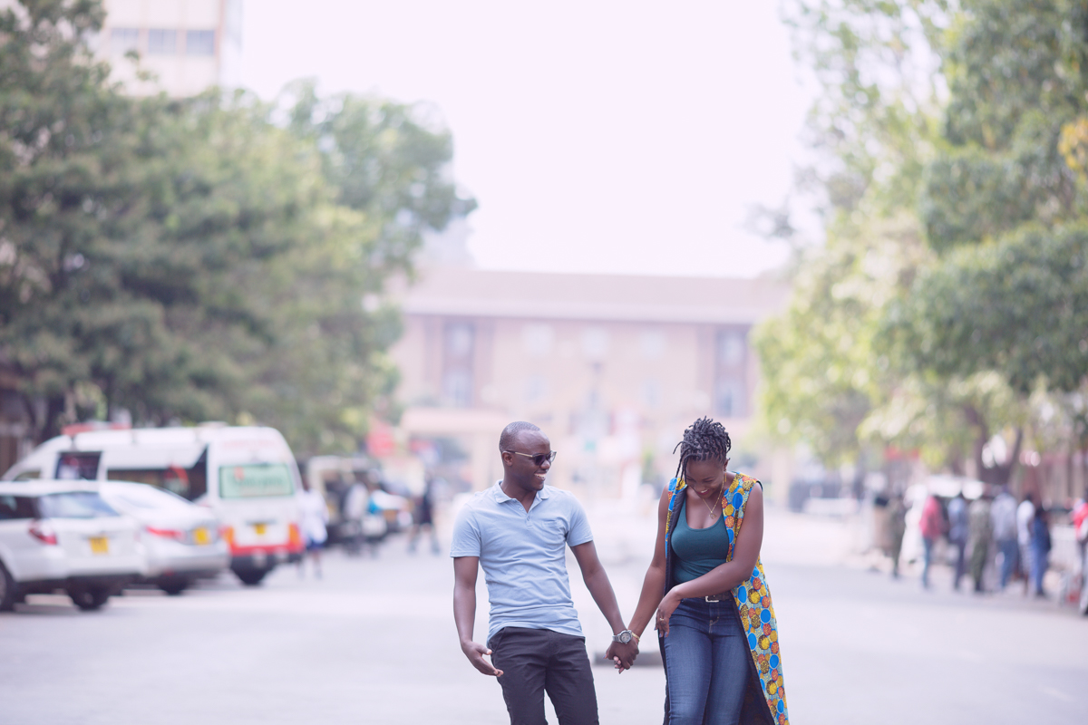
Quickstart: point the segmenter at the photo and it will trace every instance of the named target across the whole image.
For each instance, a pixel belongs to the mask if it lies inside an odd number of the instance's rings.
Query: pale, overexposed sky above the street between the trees
[[[449,128],[485,268],[754,276],[744,228],[802,158],[809,97],[777,2],[249,0],[243,85],[316,77]]]

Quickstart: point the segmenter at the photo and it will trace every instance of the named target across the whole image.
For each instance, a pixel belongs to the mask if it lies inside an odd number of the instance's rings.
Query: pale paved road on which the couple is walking
[[[607,502],[591,520],[628,613],[653,524]],[[841,563],[848,550],[842,524],[768,515],[794,723],[1085,722],[1088,620],[953,595],[940,576],[923,592]],[[89,614],[32,597],[0,615],[0,723],[499,725],[497,683],[457,647],[452,579],[448,559],[394,539],[376,559],[334,552],[321,580],[284,568],[248,589],[223,577],[177,598],[131,591]],[[603,650],[603,617],[577,582],[576,600]],[[660,722],[659,667],[595,672],[603,725]]]

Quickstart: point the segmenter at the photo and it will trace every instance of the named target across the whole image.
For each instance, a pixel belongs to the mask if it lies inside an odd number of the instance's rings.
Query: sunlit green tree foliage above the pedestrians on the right
[[[1088,4],[790,8],[799,57],[825,91],[811,124],[825,154],[827,242],[799,265],[789,312],[761,332],[769,423],[792,421],[828,462],[876,440],[935,465],[969,455],[1003,483],[1026,429],[1041,430],[1040,411],[1083,390],[1088,373]],[[906,218],[916,236],[879,241],[879,228]],[[902,284],[838,295],[873,283],[842,260],[874,248]],[[842,391],[812,380],[839,370],[879,374],[837,416]],[[985,463],[1003,432],[1012,459]]]

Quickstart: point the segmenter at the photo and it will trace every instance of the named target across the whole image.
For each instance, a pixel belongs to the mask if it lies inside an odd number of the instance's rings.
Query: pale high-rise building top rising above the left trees
[[[242,0],[104,0],[98,53],[129,92],[194,96],[240,80]],[[140,80],[137,66],[156,78]]]

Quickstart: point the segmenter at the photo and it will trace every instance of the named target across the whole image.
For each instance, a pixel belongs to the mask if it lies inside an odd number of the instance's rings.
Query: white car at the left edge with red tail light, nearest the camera
[[[0,483],[0,610],[28,593],[67,592],[100,608],[144,572],[139,527],[92,484]]]

